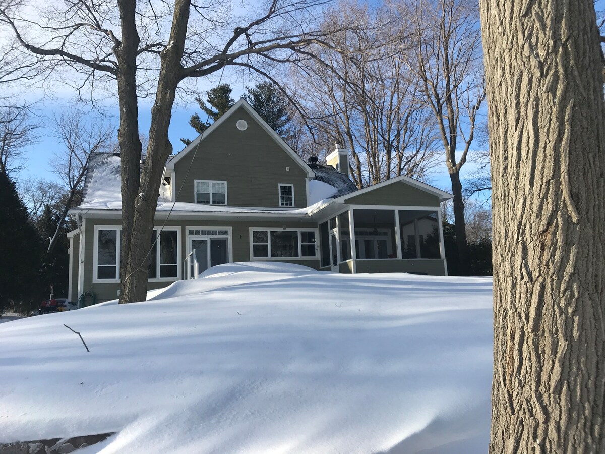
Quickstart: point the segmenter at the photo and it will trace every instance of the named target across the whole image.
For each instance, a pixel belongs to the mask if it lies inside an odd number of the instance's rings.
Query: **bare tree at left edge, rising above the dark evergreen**
[[[18,173],[24,165],[24,153],[36,142],[34,134],[40,127],[32,119],[30,106],[15,102],[0,102],[0,173]]]

